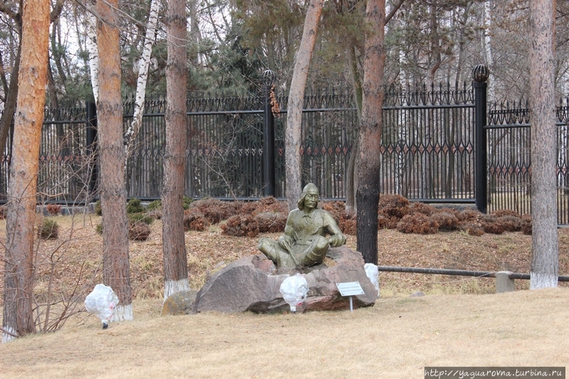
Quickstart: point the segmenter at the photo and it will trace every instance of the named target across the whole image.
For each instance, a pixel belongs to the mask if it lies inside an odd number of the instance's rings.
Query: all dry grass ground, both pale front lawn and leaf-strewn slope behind
[[[41,241],[36,255],[38,304],[75,291],[79,309],[101,278],[100,219],[54,219],[60,236]],[[0,230],[4,240],[4,222]],[[151,230],[129,248],[134,321],[103,331],[82,312],[56,333],[0,344],[0,378],[423,378],[425,366],[569,362],[565,284],[526,291],[528,281],[518,280],[519,291],[492,294],[494,279],[382,273],[382,298],[352,313],[162,317],[159,221]],[[186,233],[191,286],[255,254],[258,237],[227,237],[218,225]],[[521,233],[381,230],[378,240],[380,265],[528,272],[531,262],[531,237]],[[560,274],[569,274],[569,230],[559,230],[559,240]],[[355,247],[355,237],[348,244]],[[2,285],[0,276],[0,292]],[[408,297],[415,291],[427,296]]]

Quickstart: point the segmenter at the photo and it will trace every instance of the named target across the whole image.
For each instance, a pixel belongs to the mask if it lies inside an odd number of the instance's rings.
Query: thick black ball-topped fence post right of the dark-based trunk
[[[477,65],[472,70],[472,87],[474,87],[474,165],[476,178],[474,191],[476,206],[482,213],[487,208],[487,147],[486,147],[486,91],[488,89],[489,70],[485,65]]]

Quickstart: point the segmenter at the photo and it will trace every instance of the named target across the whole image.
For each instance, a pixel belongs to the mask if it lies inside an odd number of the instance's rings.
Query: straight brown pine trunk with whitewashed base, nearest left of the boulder
[[[188,263],[184,236],[184,167],[186,166],[186,3],[169,0],[166,14],[168,64],[166,65],[166,149],[162,188],[162,240],[164,249],[164,300],[188,289]]]

